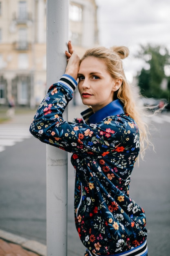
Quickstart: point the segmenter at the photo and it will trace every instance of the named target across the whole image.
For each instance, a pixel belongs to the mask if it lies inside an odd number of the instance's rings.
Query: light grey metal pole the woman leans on
[[[66,68],[68,0],[47,0],[47,86],[57,82]],[[67,111],[64,111],[67,120]],[[46,146],[47,256],[67,255],[67,153]]]

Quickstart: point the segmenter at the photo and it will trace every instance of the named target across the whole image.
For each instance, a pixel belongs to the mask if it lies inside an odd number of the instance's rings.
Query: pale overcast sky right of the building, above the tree
[[[170,0],[96,0],[99,44],[125,45],[127,72],[136,74],[141,61],[133,59],[139,44],[164,45],[170,50]]]

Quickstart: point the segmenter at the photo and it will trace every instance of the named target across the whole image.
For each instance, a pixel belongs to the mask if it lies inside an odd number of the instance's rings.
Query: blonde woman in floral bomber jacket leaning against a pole
[[[145,212],[130,198],[129,184],[140,144],[143,155],[148,138],[122,67],[128,48],[95,47],[79,61],[69,41],[65,54],[66,72],[49,88],[30,132],[73,153],[75,225],[85,255],[146,256]],[[62,113],[77,79],[82,102],[91,107],[68,123]]]

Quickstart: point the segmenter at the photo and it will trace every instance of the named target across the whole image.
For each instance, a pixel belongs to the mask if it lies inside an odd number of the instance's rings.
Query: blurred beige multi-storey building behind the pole
[[[98,43],[95,0],[69,4],[77,52]],[[0,0],[0,105],[34,107],[46,93],[46,0]]]

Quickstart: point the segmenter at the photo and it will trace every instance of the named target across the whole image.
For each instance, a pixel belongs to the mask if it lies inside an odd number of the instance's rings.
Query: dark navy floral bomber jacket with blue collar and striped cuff
[[[93,255],[127,252],[146,241],[144,209],[129,197],[130,174],[139,153],[139,130],[115,100],[73,123],[62,113],[77,82],[63,75],[40,104],[30,132],[40,141],[73,153],[75,225]]]

